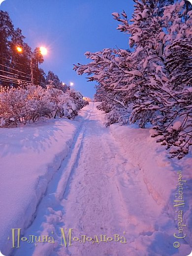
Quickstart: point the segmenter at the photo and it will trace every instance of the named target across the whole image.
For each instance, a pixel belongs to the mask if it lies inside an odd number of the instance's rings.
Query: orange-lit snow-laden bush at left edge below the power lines
[[[1,126],[17,123],[35,122],[41,117],[51,117],[54,105],[49,101],[46,91],[40,86],[26,89],[0,88]]]

